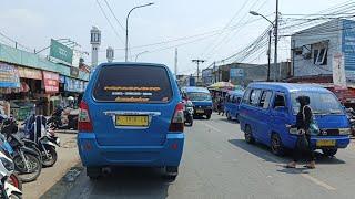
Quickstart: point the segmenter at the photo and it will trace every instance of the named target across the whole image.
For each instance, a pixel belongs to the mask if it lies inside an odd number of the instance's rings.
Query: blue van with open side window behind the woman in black
[[[307,95],[320,134],[311,136],[313,149],[334,156],[349,144],[349,123],[336,96],[317,85],[288,83],[252,83],[240,105],[239,119],[247,143],[260,142],[275,155],[293,149],[297,130],[287,128],[296,123],[297,96]]]

